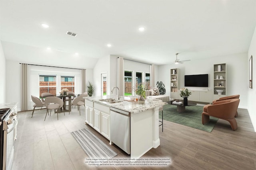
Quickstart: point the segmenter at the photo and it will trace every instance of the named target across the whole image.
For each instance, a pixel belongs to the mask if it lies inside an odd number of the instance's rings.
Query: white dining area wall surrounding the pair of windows
[[[44,71],[45,70],[45,71]],[[76,73],[76,81],[77,81],[77,89],[75,93],[81,92],[81,80],[80,80],[80,74],[81,70],[78,69],[70,69],[70,68],[56,68],[56,67],[45,67],[45,66],[31,66],[28,65],[28,103],[30,104],[28,106],[28,109],[32,109],[32,100],[31,95],[38,96],[37,94],[37,88],[38,88],[38,80],[34,81],[34,79],[31,79],[31,77],[38,78],[38,74],[61,74],[61,75],[71,75]],[[86,69],[86,82],[88,80],[93,81],[93,71],[92,69]],[[31,82],[32,80],[32,82]],[[11,61],[6,60],[6,82],[8,84],[6,85],[6,103],[11,102],[18,102],[18,111],[20,111],[21,108],[21,64],[17,61]],[[30,87],[30,83],[32,86]],[[61,89],[57,89],[57,92],[59,92]]]

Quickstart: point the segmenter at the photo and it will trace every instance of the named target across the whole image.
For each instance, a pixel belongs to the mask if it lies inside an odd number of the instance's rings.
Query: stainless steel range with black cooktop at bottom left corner
[[[0,169],[12,168],[14,141],[18,121],[17,113],[10,108],[0,109]]]

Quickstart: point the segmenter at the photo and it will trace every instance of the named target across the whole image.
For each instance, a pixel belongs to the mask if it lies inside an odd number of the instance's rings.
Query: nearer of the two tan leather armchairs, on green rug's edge
[[[210,116],[228,121],[232,130],[237,129],[235,115],[240,99],[221,100],[204,106],[202,112],[202,124],[210,121]]]

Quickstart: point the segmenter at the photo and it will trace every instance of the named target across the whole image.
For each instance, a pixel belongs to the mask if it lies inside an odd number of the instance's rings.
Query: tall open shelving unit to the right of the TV
[[[224,64],[214,64],[213,66],[213,83],[214,83],[214,95],[213,95],[213,100],[219,99],[221,97],[226,96],[227,94],[227,77],[226,77],[226,70],[227,69],[227,65],[226,63]],[[218,94],[218,92],[216,92],[216,90],[224,90],[224,92],[222,92],[222,94]]]

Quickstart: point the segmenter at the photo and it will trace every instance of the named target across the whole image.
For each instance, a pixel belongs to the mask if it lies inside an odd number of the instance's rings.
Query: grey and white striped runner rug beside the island
[[[113,158],[117,153],[101,141],[89,129],[71,132],[78,144],[90,158]]]

